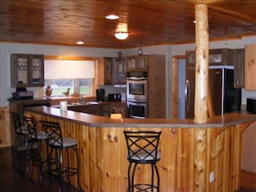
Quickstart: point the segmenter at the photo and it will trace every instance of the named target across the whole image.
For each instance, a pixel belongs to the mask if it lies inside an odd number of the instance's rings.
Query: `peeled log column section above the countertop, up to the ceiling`
[[[195,118],[203,123],[208,118],[209,28],[207,5],[197,4],[196,10],[196,84]]]

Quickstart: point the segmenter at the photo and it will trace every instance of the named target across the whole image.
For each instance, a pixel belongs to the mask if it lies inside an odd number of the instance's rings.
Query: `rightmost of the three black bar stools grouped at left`
[[[49,174],[57,177],[60,183],[59,191],[63,188],[64,181],[70,183],[70,177],[77,175],[78,189],[81,190],[79,180],[79,158],[77,145],[78,140],[74,138],[63,138],[58,122],[40,121],[41,126],[47,134],[47,164]],[[70,166],[69,157],[71,156],[69,149],[72,149],[76,156],[77,167]],[[66,150],[66,162],[63,162],[64,150]],[[72,157],[72,156],[71,156]],[[65,180],[66,179],[66,180]]]

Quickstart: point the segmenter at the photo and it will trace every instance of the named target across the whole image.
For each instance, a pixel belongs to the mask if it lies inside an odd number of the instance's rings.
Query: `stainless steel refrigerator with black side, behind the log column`
[[[209,66],[209,102],[208,115],[224,115],[240,111],[241,89],[234,89],[234,66]],[[186,69],[185,118],[194,118],[195,67]]]

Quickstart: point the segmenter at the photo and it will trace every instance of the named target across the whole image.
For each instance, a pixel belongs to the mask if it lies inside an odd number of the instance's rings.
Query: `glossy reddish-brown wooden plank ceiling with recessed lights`
[[[209,2],[210,40],[256,34],[255,0]],[[197,1],[198,2],[198,1]],[[2,42],[128,48],[195,41],[195,0],[1,0]],[[109,14],[119,15],[115,21]],[[127,40],[116,40],[118,25]]]

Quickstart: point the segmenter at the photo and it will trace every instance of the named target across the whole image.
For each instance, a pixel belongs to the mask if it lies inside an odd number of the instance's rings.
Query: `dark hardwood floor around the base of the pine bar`
[[[45,192],[45,191],[58,191],[59,185],[53,179],[52,185],[50,185],[50,179],[43,177],[42,183],[40,183],[39,168],[35,166],[34,175],[32,179],[24,177],[26,174],[21,172],[22,167],[15,169],[15,158],[10,147],[0,148],[0,191],[4,192]],[[241,183],[246,183],[248,176],[242,171]],[[48,186],[51,186],[48,189]],[[248,187],[248,186],[244,186]],[[250,186],[249,186],[250,187]],[[78,189],[72,187],[65,187],[61,191],[78,191]],[[168,191],[163,191],[168,192]],[[237,192],[256,192],[256,189],[241,188]]]

